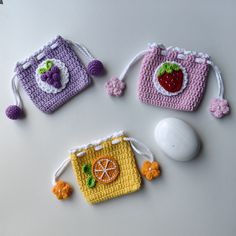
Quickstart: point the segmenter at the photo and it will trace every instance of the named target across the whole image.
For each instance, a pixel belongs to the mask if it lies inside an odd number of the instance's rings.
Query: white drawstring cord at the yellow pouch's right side
[[[125,141],[129,141],[131,147],[133,148],[133,150],[139,154],[140,156],[145,156],[149,161],[153,162],[154,161],[154,156],[152,154],[152,152],[150,151],[150,149],[143,144],[142,142],[138,141],[135,138],[124,138]],[[141,149],[143,149],[144,151],[141,151],[139,147],[135,146],[138,145]]]

